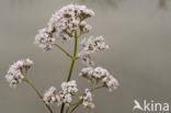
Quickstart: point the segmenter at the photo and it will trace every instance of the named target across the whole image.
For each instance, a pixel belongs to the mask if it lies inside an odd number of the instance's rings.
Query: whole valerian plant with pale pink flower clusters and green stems
[[[92,29],[86,20],[94,15],[94,12],[86,5],[69,4],[57,11],[49,20],[47,27],[39,30],[35,36],[35,44],[43,48],[44,52],[50,50],[54,46],[58,47],[71,59],[68,78],[61,83],[61,90],[57,92],[55,87],[50,87],[44,95],[27,79],[27,70],[32,67],[33,61],[29,58],[21,59],[11,65],[5,78],[10,87],[16,88],[22,81],[27,82],[43,100],[50,113],[55,113],[49,103],[57,103],[60,106],[60,113],[73,113],[79,105],[87,109],[93,109],[95,105],[92,101],[94,90],[106,88],[110,91],[118,87],[117,80],[102,67],[95,67],[91,60],[91,54],[103,52],[109,48],[102,36],[84,37],[79,44],[78,39]],[[55,41],[69,42],[75,39],[73,54],[69,54]],[[64,43],[62,43],[64,44]],[[82,50],[77,53],[78,47]],[[71,80],[75,61],[80,59],[87,67],[83,68],[79,77],[82,77],[92,83],[91,88],[84,89],[84,92],[72,102],[72,97],[79,91],[76,80]]]

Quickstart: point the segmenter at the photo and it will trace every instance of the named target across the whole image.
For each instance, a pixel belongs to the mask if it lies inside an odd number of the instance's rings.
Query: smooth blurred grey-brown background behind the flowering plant
[[[112,93],[106,89],[95,91],[95,109],[81,106],[76,113],[133,113],[134,99],[171,104],[171,1],[75,2],[94,10],[95,16],[88,20],[93,26],[90,35],[103,35],[110,49],[94,54],[93,60],[114,74],[121,84]],[[29,79],[39,91],[44,93],[50,86],[60,90],[69,58],[55,47],[43,53],[33,42],[52,14],[69,3],[70,0],[0,0],[0,113],[48,113],[30,86],[23,82],[11,89],[4,76],[13,61],[29,57],[34,60]],[[72,52],[72,43],[60,45]],[[89,87],[78,77],[83,67],[77,61],[72,75],[79,80],[79,89]]]

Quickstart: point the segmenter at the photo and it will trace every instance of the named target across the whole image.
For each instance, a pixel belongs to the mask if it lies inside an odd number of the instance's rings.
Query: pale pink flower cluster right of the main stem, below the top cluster
[[[78,57],[88,66],[94,65],[94,63],[91,60],[90,54],[102,52],[109,48],[109,45],[105,44],[102,36],[83,38],[80,45],[83,47],[83,49],[78,54]]]

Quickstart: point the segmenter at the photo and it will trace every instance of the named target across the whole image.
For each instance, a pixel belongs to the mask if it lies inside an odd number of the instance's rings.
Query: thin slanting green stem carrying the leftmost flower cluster
[[[29,84],[31,84],[31,87],[34,89],[34,91],[37,93],[37,95],[41,98],[41,100],[43,100],[42,94],[41,94],[39,91],[35,88],[35,86],[26,78],[25,75],[23,75],[23,76],[24,76],[25,81],[26,81]],[[43,102],[45,103],[45,105],[46,105],[46,108],[49,110],[49,112],[50,112],[50,113],[54,113],[53,110],[50,109],[50,106],[49,106],[45,101],[43,101]]]

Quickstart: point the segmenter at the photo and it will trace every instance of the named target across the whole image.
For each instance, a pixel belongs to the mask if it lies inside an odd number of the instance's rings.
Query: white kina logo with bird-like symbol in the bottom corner
[[[133,111],[140,110],[147,112],[168,112],[169,111],[169,103],[159,103],[155,102],[153,100],[147,101],[144,100],[142,103],[139,103],[137,100],[134,100]]]

